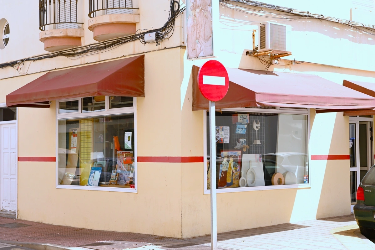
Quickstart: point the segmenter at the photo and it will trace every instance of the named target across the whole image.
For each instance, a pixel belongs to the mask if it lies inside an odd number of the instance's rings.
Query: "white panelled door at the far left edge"
[[[1,126],[1,211],[17,206],[17,130],[15,123]]]

